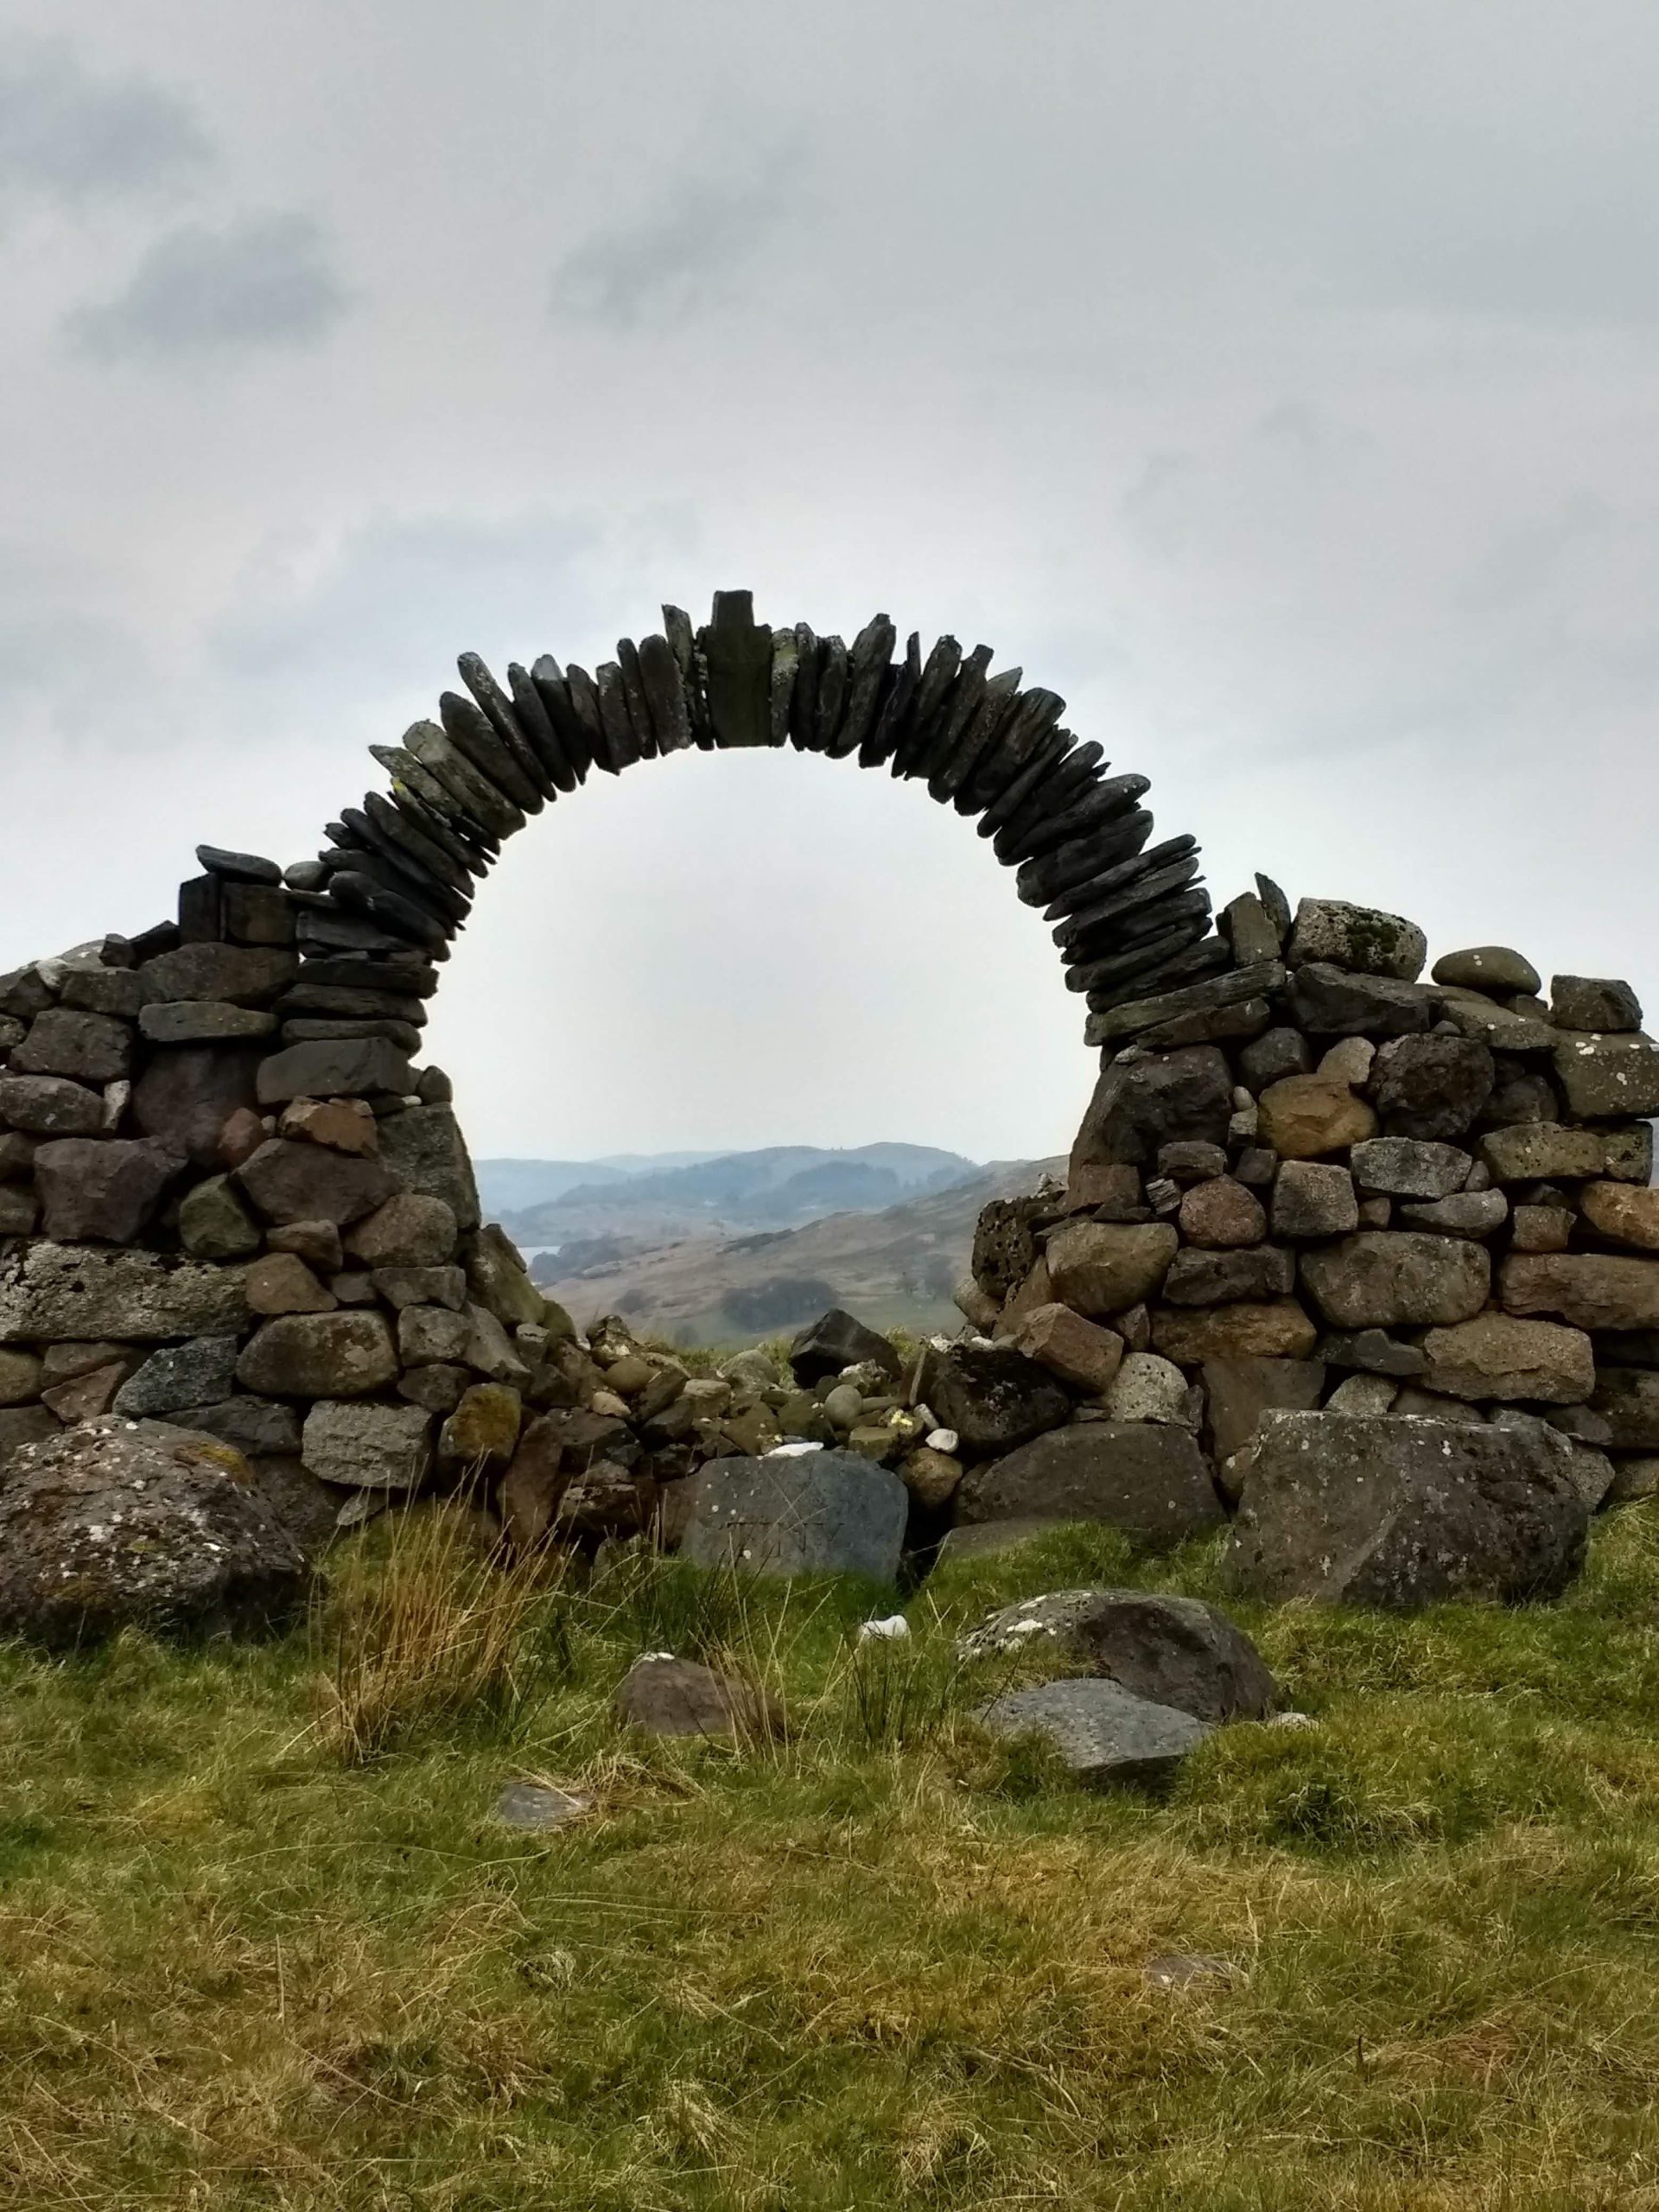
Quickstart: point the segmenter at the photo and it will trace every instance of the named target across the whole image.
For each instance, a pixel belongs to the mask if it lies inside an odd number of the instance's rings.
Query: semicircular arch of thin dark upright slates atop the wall
[[[1210,936],[1197,841],[1152,845],[1146,776],[1110,774],[1097,743],[1062,728],[1064,699],[1022,688],[1020,668],[993,675],[991,659],[989,646],[962,653],[953,637],[922,655],[916,633],[900,653],[887,615],[852,646],[807,624],[770,628],[748,591],[714,593],[699,630],[666,606],[661,635],[624,637],[593,675],[542,655],[531,668],[511,664],[502,686],[462,653],[465,692],[445,692],[438,719],[414,723],[400,745],[369,748],[389,790],[343,807],[321,858],[288,869],[310,991],[380,993],[405,1002],[387,1020],[409,1018],[400,978],[447,958],[478,885],[529,816],[595,770],[785,745],[885,768],[978,816],[1015,869],[1018,896],[1044,909],[1066,984],[1095,1015],[1230,967]],[[316,1018],[330,1018],[323,1000]]]

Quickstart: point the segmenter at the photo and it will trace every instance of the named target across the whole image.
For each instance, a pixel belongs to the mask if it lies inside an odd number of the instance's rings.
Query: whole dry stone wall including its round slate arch
[[[723,593],[595,677],[471,655],[389,790],[288,869],[199,847],[177,920],[0,978],[0,1464],[175,1422],[361,1515],[484,1478],[511,1535],[677,1537],[712,1458],[894,1469],[911,1540],[1091,1513],[1217,1526],[1267,1411],[1531,1425],[1595,1495],[1659,1467],[1659,1048],[1628,984],[1259,878],[1212,925],[1020,670],[876,617],[849,648]],[[686,748],[794,745],[978,816],[1044,905],[1102,1077],[1064,1188],[987,1208],[967,1332],[849,1316],[790,1371],[580,1338],[480,1221],[418,1064],[471,896],[529,814]]]

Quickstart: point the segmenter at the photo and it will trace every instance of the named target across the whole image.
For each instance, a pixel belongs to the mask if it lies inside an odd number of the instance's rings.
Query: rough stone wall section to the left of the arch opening
[[[177,925],[0,978],[0,1464],[126,1413],[411,1489],[573,1332],[411,1066],[434,967],[201,858]]]

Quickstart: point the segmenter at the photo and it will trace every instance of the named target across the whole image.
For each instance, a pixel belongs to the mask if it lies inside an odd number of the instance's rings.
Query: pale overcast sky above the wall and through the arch
[[[1022,664],[1217,902],[1659,998],[1657,97],[1652,0],[7,0],[0,967],[752,586]],[[478,1152],[1066,1146],[953,812],[597,781],[436,1002]]]

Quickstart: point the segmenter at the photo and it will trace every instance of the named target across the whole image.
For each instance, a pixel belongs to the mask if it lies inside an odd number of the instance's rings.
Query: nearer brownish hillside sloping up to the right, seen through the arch
[[[1060,1168],[1064,1161],[1000,1161],[880,1212],[838,1212],[794,1230],[703,1230],[633,1250],[602,1239],[566,1248],[575,1265],[549,1254],[535,1279],[580,1325],[626,1314],[679,1345],[752,1343],[799,1329],[827,1305],[845,1305],[872,1327],[956,1327],[962,1316],[951,1292],[967,1274],[980,1208]]]

